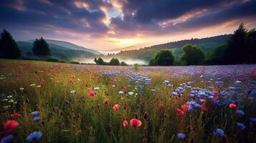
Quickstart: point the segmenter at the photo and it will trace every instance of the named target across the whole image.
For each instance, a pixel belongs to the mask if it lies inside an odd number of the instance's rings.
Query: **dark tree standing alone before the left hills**
[[[39,56],[39,57],[50,56],[49,46],[42,37],[41,39],[36,39],[34,41],[34,46],[32,51],[34,56]]]

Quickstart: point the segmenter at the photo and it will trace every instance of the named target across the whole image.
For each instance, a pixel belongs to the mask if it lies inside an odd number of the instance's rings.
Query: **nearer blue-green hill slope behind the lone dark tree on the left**
[[[27,42],[27,41],[17,41],[16,44],[19,46],[19,49],[22,51],[22,56],[25,57],[31,57],[32,56],[32,48],[33,43]],[[51,56],[65,60],[70,61],[72,59],[76,58],[91,58],[97,56],[98,54],[94,54],[90,51],[85,50],[77,50],[77,49],[69,49],[64,46],[59,46],[55,44],[49,44],[49,49],[51,51]]]

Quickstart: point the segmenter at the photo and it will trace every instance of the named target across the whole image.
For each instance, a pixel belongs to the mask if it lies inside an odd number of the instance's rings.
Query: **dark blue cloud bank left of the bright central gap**
[[[103,23],[106,15],[100,10],[100,6],[110,8],[111,3],[86,1],[90,9],[80,9],[74,3],[75,1],[1,1],[0,27],[20,27],[22,30],[32,31],[49,29],[49,26],[52,26],[54,29],[67,29],[85,34],[104,34],[108,31],[108,26]],[[33,28],[25,29],[29,26]]]

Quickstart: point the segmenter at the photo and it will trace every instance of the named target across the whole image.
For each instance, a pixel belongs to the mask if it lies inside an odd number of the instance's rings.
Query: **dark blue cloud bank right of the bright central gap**
[[[111,19],[111,25],[118,31],[141,30],[158,34],[169,34],[174,31],[204,28],[215,24],[222,24],[233,19],[256,17],[255,0],[142,0],[120,1],[124,12],[123,19]],[[171,22],[161,26],[161,22],[178,19],[180,16],[196,14],[191,19]],[[119,32],[120,33],[120,32]]]

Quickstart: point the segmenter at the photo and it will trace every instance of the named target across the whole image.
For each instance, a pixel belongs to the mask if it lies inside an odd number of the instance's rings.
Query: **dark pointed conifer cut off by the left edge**
[[[17,59],[21,56],[19,47],[11,34],[4,29],[0,38],[0,58]]]

